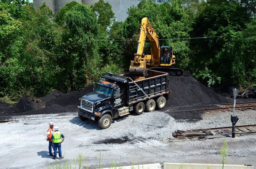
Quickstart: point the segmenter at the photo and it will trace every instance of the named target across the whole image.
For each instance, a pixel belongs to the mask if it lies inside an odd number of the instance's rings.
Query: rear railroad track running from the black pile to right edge
[[[233,110],[233,103],[225,103],[225,104],[213,104],[213,105],[206,105],[207,106],[218,106],[215,108],[192,108],[192,109],[186,109],[182,110],[182,108],[188,108],[188,107],[193,107],[193,106],[183,106],[183,107],[177,107],[180,110],[167,110],[168,112],[180,112],[180,111],[216,111],[216,110]],[[253,109],[256,110],[256,102],[242,102],[242,103],[236,103],[235,109],[238,110],[246,110],[246,109]]]

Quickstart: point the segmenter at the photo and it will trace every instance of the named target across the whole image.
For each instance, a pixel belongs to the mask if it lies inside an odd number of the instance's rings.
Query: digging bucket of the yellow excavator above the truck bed
[[[134,64],[134,61],[131,61],[129,73],[133,76],[148,76],[145,62],[142,61],[140,64]]]

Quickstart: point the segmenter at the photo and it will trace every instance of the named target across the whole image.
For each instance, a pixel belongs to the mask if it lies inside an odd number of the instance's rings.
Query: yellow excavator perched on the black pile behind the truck
[[[143,53],[146,37],[151,42],[150,55],[144,55]],[[175,64],[175,56],[173,55],[172,46],[160,47],[155,29],[152,28],[148,18],[143,18],[140,25],[137,53],[134,54],[134,61],[130,63],[130,74],[146,77],[148,68],[167,72],[172,76],[182,76],[183,71],[181,69],[170,68],[173,64]]]

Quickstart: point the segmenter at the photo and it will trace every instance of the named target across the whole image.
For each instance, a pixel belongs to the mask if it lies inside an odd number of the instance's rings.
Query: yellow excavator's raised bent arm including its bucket
[[[154,28],[152,28],[148,18],[143,18],[140,25],[140,37],[138,39],[137,53],[134,54],[134,61],[130,64],[130,74],[137,76],[147,76],[146,70],[146,58],[144,58],[143,49],[146,41],[146,37],[151,42],[150,48],[151,59],[158,59],[160,56],[160,46],[158,41],[158,35]]]

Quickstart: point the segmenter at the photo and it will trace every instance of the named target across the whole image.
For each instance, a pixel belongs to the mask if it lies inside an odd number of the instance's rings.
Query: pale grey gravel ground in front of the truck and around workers
[[[196,112],[195,112],[196,113]],[[49,121],[60,127],[65,135],[62,143],[64,159],[72,161],[79,154],[86,157],[86,165],[95,168],[102,163],[119,165],[190,162],[221,163],[218,150],[228,141],[228,163],[256,166],[256,135],[211,140],[169,141],[175,130],[231,126],[232,112],[199,113],[201,120],[175,120],[171,113],[150,112],[140,116],[130,114],[114,121],[110,128],[100,130],[96,122],[82,122],[76,112],[54,115],[33,115],[18,122],[0,124],[4,130],[0,140],[0,168],[46,168],[53,159],[48,156],[46,130]],[[237,111],[237,125],[256,124],[256,111]],[[58,115],[58,116],[57,116]],[[57,118],[58,117],[58,118]],[[62,118],[63,117],[63,118]],[[64,161],[61,160],[61,161]]]

